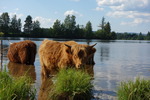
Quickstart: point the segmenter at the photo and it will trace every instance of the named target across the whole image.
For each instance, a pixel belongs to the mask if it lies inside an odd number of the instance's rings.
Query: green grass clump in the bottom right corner
[[[118,100],[150,100],[150,80],[121,82],[117,94]]]

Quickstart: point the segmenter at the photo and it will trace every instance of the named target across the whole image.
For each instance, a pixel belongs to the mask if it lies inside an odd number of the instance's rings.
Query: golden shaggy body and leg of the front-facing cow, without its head
[[[39,48],[42,75],[48,76],[52,69],[65,68],[72,65],[70,48],[63,42],[44,40]]]

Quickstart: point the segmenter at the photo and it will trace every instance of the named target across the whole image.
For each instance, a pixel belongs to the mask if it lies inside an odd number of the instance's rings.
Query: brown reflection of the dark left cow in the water
[[[8,66],[9,73],[14,77],[27,75],[33,79],[33,82],[36,80],[34,65],[26,65],[26,64],[9,62],[7,66]]]

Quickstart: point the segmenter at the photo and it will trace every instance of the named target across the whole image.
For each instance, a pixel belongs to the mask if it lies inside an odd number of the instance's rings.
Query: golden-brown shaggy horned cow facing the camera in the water
[[[75,66],[80,68],[92,59],[96,44],[89,46],[74,41],[57,42],[45,39],[39,48],[42,75],[49,76],[52,69]]]

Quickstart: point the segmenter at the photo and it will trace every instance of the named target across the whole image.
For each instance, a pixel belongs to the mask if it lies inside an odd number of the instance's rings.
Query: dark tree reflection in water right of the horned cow
[[[109,47],[108,46],[100,47],[100,60],[101,62],[109,60]]]

